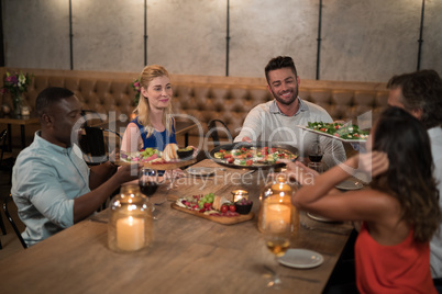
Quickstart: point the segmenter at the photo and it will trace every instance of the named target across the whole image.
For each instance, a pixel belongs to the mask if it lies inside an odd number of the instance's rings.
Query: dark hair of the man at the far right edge
[[[421,109],[421,123],[431,128],[442,126],[442,80],[432,69],[393,77],[388,89],[401,88],[400,102],[407,111]]]

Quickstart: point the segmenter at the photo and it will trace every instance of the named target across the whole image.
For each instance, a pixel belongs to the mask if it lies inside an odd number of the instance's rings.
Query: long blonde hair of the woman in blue
[[[140,87],[147,90],[148,84],[152,80],[164,76],[169,78],[169,74],[164,67],[158,65],[146,66],[140,76]],[[152,126],[150,120],[148,99],[143,97],[143,93],[141,93],[139,105],[133,112],[139,114],[139,123],[144,126],[145,131],[147,131],[146,137],[150,137],[154,133],[154,127]],[[163,124],[166,126],[166,129],[169,134],[172,133],[172,126],[173,126],[173,118],[170,114],[172,114],[172,103],[169,101],[167,108],[163,112],[163,120],[162,120]]]

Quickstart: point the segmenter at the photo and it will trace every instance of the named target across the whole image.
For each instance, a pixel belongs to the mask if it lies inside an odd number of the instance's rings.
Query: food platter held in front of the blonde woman
[[[120,159],[114,160],[113,163],[117,166],[143,163],[145,168],[170,170],[186,167],[197,161],[195,157],[188,155],[185,159],[180,159],[178,150],[178,145],[168,144],[163,151],[146,148],[135,152],[120,152]]]

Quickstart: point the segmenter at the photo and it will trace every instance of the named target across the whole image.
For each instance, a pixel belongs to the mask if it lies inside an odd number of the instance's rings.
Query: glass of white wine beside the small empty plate
[[[272,219],[264,229],[265,244],[277,261],[284,256],[290,246],[291,225],[283,218]],[[270,270],[273,279],[267,283],[268,287],[280,289],[283,281],[276,271]]]

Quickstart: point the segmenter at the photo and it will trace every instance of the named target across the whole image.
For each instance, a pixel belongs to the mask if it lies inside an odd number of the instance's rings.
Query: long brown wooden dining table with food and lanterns
[[[352,226],[321,223],[300,213],[290,248],[314,250],[322,264],[311,269],[281,265],[257,229],[259,192],[268,171],[222,167],[206,159],[209,177],[166,181],[154,196],[153,245],[117,253],[108,248],[108,210],[0,261],[1,293],[272,293],[275,271],[279,293],[321,293],[347,241]],[[172,207],[181,196],[230,195],[244,189],[253,200],[251,220],[222,225]],[[270,270],[268,270],[270,269]]]

